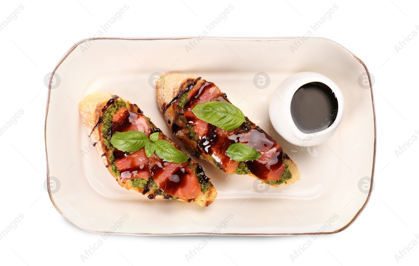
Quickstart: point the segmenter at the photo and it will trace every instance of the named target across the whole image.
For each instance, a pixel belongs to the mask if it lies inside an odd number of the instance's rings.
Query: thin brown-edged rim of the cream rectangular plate
[[[109,231],[96,231],[96,230],[90,230],[83,228],[79,225],[76,225],[72,222],[62,211],[57,207],[57,205],[54,202],[54,198],[52,197],[51,193],[51,187],[49,185],[49,163],[48,163],[48,151],[47,151],[47,118],[48,118],[48,110],[49,110],[49,100],[51,96],[51,85],[52,85],[52,77],[54,77],[55,72],[57,71],[58,67],[62,64],[62,62],[71,54],[72,51],[76,49],[78,45],[81,43],[87,42],[87,41],[93,41],[93,40],[134,40],[134,41],[155,41],[155,40],[188,40],[188,39],[207,39],[207,40],[225,40],[225,41],[278,41],[278,40],[294,40],[294,39],[313,39],[313,40],[319,40],[319,41],[326,41],[328,43],[333,43],[334,45],[338,46],[342,50],[344,50],[347,54],[354,57],[357,61],[362,64],[362,66],[365,68],[365,71],[368,76],[368,81],[370,83],[370,92],[371,92],[371,101],[372,101],[372,112],[374,116],[374,152],[373,152],[373,158],[372,158],[372,173],[371,173],[371,183],[370,183],[370,191],[368,192],[367,199],[365,200],[364,204],[358,210],[358,212],[352,217],[352,219],[344,225],[343,227],[333,231],[333,232],[314,232],[314,233],[205,233],[205,232],[197,232],[197,233],[120,233],[120,232],[109,232]],[[52,202],[52,205],[54,205],[55,209],[59,212],[59,214],[62,215],[67,221],[72,223],[73,225],[77,226],[80,229],[83,229],[88,232],[93,233],[100,233],[100,234],[118,234],[118,235],[254,235],[254,236],[281,236],[281,235],[329,235],[329,234],[335,234],[339,233],[345,229],[347,229],[352,223],[354,223],[355,220],[360,216],[361,212],[365,209],[365,206],[370,200],[371,192],[373,188],[373,182],[374,182],[374,171],[375,171],[375,153],[377,148],[377,122],[375,118],[375,103],[374,103],[374,94],[372,92],[372,85],[371,85],[371,77],[370,72],[368,71],[367,66],[365,63],[358,58],[354,53],[346,49],[341,44],[323,37],[210,37],[210,36],[195,36],[195,37],[143,37],[143,38],[135,38],[135,37],[95,37],[95,38],[85,38],[82,39],[75,44],[73,44],[70,49],[65,52],[65,54],[59,59],[58,63],[55,65],[53,71],[51,72],[51,75],[49,77],[48,82],[48,98],[47,98],[47,107],[45,111],[45,123],[44,123],[44,141],[45,141],[45,156],[47,161],[47,189],[48,189],[48,195],[49,199]]]

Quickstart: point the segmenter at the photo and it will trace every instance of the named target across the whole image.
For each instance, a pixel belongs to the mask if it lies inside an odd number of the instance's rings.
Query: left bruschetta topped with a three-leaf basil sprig
[[[195,202],[217,197],[202,167],[183,153],[140,108],[117,95],[94,93],[79,103],[88,136],[119,185],[147,196]]]

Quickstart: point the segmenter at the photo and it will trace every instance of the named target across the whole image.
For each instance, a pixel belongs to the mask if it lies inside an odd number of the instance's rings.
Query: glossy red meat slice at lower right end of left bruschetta
[[[202,194],[194,170],[186,161],[183,164],[163,161],[153,154],[150,157],[150,171],[157,186],[163,192],[183,200],[194,199]]]

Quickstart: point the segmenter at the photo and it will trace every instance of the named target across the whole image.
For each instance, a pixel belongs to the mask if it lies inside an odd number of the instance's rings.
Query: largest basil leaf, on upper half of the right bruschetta
[[[197,118],[224,130],[233,130],[246,122],[242,111],[230,102],[202,102],[191,111]]]

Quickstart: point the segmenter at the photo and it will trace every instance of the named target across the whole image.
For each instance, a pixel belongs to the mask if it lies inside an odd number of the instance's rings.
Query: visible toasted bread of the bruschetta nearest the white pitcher
[[[171,127],[173,134],[175,134],[179,139],[181,139],[181,141],[184,142],[186,148],[192,153],[194,153],[194,155],[197,158],[208,161],[209,163],[217,166],[217,162],[212,158],[212,156],[207,152],[204,152],[202,146],[200,146],[198,141],[191,137],[193,136],[194,132],[191,132],[191,127],[188,126],[188,122],[184,118],[182,118],[185,104],[184,101],[186,99],[182,97],[182,95],[184,95],[185,93],[188,94],[188,92],[193,88],[197,88],[198,86],[202,86],[206,83],[206,80],[201,79],[200,77],[196,77],[192,74],[165,74],[162,77],[160,77],[158,79],[158,82],[156,83],[156,98],[158,102],[158,107],[160,111],[163,113],[166,122]],[[224,97],[228,101],[225,94]],[[247,121],[246,123],[249,127],[260,129],[253,122],[248,120],[247,117],[245,118]],[[248,171],[246,171],[246,174],[253,176],[261,180],[261,182],[264,182],[274,187],[287,186],[293,184],[297,180],[300,180],[300,171],[298,171],[297,166],[286,153],[283,153],[283,161],[285,163],[285,167],[287,167],[287,171],[290,171],[291,173],[291,177],[288,176],[286,180],[280,181],[279,179],[277,180],[278,182],[266,182],[265,180],[259,178],[258,176]],[[219,165],[217,167],[221,169]],[[238,172],[236,171],[236,173]],[[231,174],[231,172],[229,174]]]

